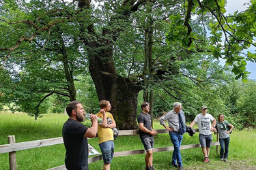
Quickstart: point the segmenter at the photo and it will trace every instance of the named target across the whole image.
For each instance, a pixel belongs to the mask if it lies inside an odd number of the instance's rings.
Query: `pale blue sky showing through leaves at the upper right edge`
[[[246,7],[248,5],[244,5],[244,3],[248,3],[250,0],[227,0],[227,14],[233,14],[233,12],[241,12],[243,10],[246,10]],[[250,48],[251,52],[255,53],[256,48]],[[247,62],[246,70],[248,72],[251,72],[251,74],[248,76],[249,79],[256,80],[256,63]]]

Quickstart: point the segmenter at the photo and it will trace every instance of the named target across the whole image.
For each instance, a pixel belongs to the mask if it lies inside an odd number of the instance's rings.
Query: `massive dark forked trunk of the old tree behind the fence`
[[[117,10],[117,14],[111,16],[108,26],[97,33],[93,22],[91,24],[79,22],[81,39],[83,39],[89,56],[89,71],[94,80],[99,100],[109,100],[111,113],[119,129],[137,129],[137,97],[141,90],[141,84],[132,82],[128,78],[117,75],[113,63],[113,43],[122,33],[128,16],[138,10],[143,1],[124,1]],[[90,8],[89,0],[79,0],[79,8]],[[85,12],[87,18],[92,15]],[[123,24],[122,24],[123,23]],[[85,30],[87,32],[85,32]]]

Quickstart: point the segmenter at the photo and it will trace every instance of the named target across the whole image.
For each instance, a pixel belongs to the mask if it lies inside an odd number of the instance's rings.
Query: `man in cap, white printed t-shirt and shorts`
[[[215,129],[216,119],[212,117],[211,114],[207,113],[207,107],[203,105],[201,107],[201,114],[197,114],[197,116],[189,126],[193,127],[196,123],[199,129],[199,141],[201,143],[201,148],[204,156],[203,163],[208,163],[210,162],[209,152],[212,142],[212,131],[217,132]]]

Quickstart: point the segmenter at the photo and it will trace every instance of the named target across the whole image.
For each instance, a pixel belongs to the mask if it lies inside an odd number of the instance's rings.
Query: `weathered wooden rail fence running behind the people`
[[[196,132],[198,132],[198,129],[195,129]],[[169,133],[166,129],[158,129],[156,130],[157,133]],[[139,134],[139,130],[123,130],[119,131],[119,136],[124,135],[137,135]],[[8,142],[9,144],[1,145],[0,146],[0,154],[3,153],[9,153],[9,163],[10,163],[10,170],[16,170],[16,151],[19,150],[28,150],[32,148],[40,148],[44,146],[53,146],[57,144],[63,143],[62,137],[55,137],[51,139],[42,139],[37,141],[25,141],[25,142],[15,142],[15,136],[8,136]],[[218,134],[216,137],[216,142],[212,142],[211,146],[216,146],[216,152],[218,154]],[[191,145],[185,145],[181,146],[180,150],[190,149],[190,148],[200,148],[201,145],[198,144],[191,144]],[[154,152],[165,152],[165,151],[172,151],[174,150],[173,146],[170,147],[164,147],[164,148],[154,148]],[[145,150],[128,150],[128,151],[121,151],[121,152],[115,152],[114,157],[119,156],[128,156],[128,155],[134,155],[134,154],[145,154]],[[102,160],[102,156],[93,156],[88,158],[88,163],[94,163],[98,160]],[[66,170],[65,165],[61,165],[59,167],[54,167],[51,170]],[[50,170],[50,169],[49,169]]]

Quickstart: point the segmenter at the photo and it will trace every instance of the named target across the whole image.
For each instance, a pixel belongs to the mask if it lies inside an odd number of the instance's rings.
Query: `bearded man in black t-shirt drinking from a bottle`
[[[83,125],[85,110],[79,101],[72,101],[66,107],[70,118],[63,124],[62,137],[66,148],[65,165],[68,170],[88,169],[88,143],[87,137],[96,137],[98,118],[91,114],[90,128]]]

